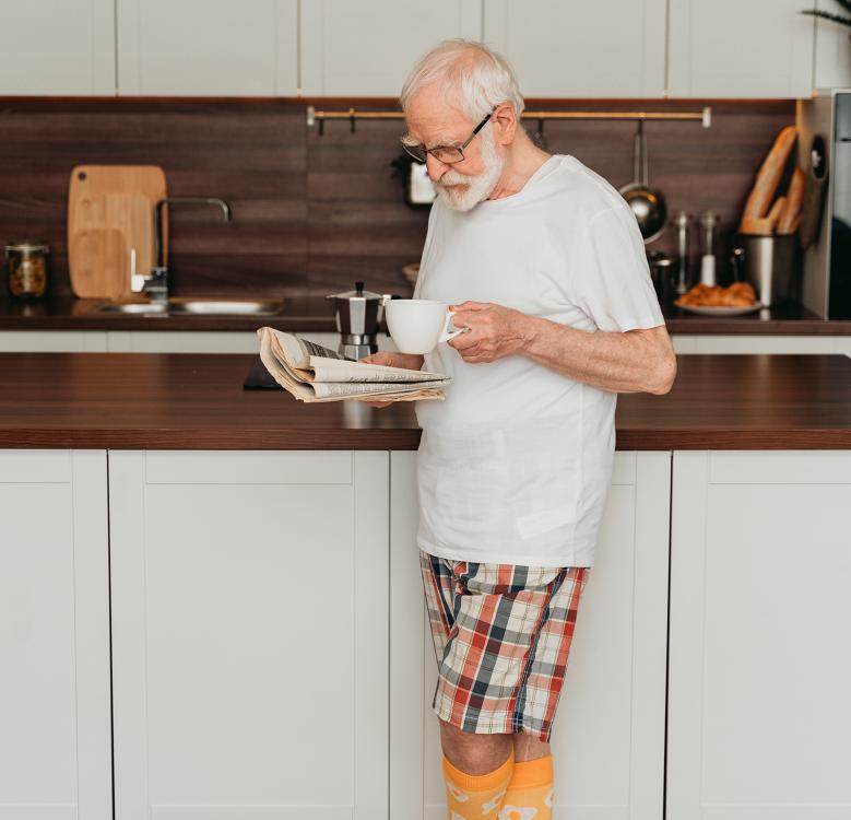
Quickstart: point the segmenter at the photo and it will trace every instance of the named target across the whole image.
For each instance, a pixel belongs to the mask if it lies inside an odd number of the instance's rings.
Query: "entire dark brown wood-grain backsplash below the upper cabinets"
[[[388,108],[393,101],[321,101],[328,108]],[[529,101],[530,109],[700,110],[702,101]],[[646,126],[650,181],[669,211],[721,216],[720,255],[793,101],[711,103],[712,127]],[[217,211],[176,206],[170,215],[177,295],[287,295],[302,302],[363,280],[406,292],[401,267],[419,258],[427,210],[407,208],[390,163],[400,120],[308,128],[304,101],[0,99],[0,241],[45,239],[51,288],[70,293],[68,181],[76,164],[154,164],[169,194],[227,200]],[[528,121],[530,133],[537,124]],[[620,186],[631,178],[631,122],[549,120],[548,150],[569,153]],[[699,253],[699,232],[693,233]],[[674,250],[671,229],[649,249]],[[723,260],[722,260],[723,266]],[[5,276],[0,293],[5,292]]]

